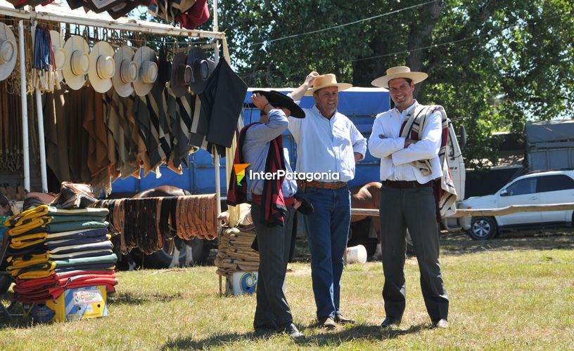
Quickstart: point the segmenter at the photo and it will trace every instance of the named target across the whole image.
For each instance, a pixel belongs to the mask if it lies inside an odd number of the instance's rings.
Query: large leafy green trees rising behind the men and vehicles
[[[312,69],[355,86],[395,65],[428,72],[417,99],[466,126],[477,167],[496,163],[493,131],[573,117],[571,0],[222,0],[219,11],[249,86],[298,86]]]

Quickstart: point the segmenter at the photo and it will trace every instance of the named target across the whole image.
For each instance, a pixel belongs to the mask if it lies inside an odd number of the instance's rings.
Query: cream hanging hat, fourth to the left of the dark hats
[[[79,90],[86,84],[89,69],[89,46],[79,35],[72,35],[64,44],[66,54],[62,73],[66,84],[73,90]]]

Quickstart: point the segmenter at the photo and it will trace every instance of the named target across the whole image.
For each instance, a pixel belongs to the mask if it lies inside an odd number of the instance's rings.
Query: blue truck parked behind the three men
[[[265,89],[250,88],[245,94],[244,108],[241,113],[241,118],[243,119],[244,124],[258,121],[260,117],[259,110],[257,108],[250,107],[249,105],[250,96],[252,95],[253,90]],[[293,88],[277,88],[275,90],[280,91],[281,93],[289,93],[293,91]],[[305,96],[302,98],[300,105],[301,107],[312,107],[313,104],[314,100],[312,96]],[[390,95],[388,91],[383,88],[350,88],[339,93],[338,111],[349,117],[355,126],[357,126],[357,129],[359,129],[367,139],[371,135],[371,129],[373,127],[374,117],[376,117],[376,114],[389,110],[389,108]],[[297,151],[293,136],[289,131],[283,133],[283,146],[288,148],[289,154],[291,155],[291,167],[295,169]],[[222,165],[219,169],[221,172],[221,194],[223,198],[227,194],[225,159],[222,158],[220,162]],[[182,175],[176,174],[165,166],[162,166],[162,176],[160,178],[155,178],[155,175],[150,173],[145,178],[142,176],[141,179],[130,177],[124,180],[116,180],[112,185],[113,193],[116,196],[117,194],[128,196],[160,185],[181,187],[182,189],[189,190],[192,194],[214,193],[215,167],[210,154],[205,150],[199,150],[198,152],[190,154],[189,165],[190,167],[184,169],[184,173]],[[449,166],[455,186],[459,192],[459,199],[464,199],[464,161],[452,125],[450,126],[449,131]],[[355,179],[350,182],[350,187],[356,187],[378,180],[379,161],[367,150],[366,157],[357,164]],[[449,222],[443,223],[443,226],[447,229],[454,228],[459,227],[459,223],[456,218],[450,218]],[[300,228],[302,228],[302,226],[300,226]],[[301,230],[302,229],[300,229],[300,231]],[[369,251],[372,252],[374,251],[373,244],[376,245],[376,233],[369,229],[365,232],[368,233],[367,235],[370,238],[369,242],[371,244],[371,249]],[[154,267],[167,267],[167,265],[174,262],[172,260],[174,252],[179,252],[174,251],[173,247],[173,245],[165,245],[165,249],[162,251],[153,253],[151,256],[146,257],[147,264]],[[207,243],[205,241],[201,241],[193,244],[194,260],[196,260],[197,257],[203,257],[203,259],[205,259],[209,249],[213,247],[215,247],[215,242]],[[184,260],[184,255],[185,253],[182,250],[181,256],[179,256],[181,261]],[[203,259],[200,259],[200,261]]]

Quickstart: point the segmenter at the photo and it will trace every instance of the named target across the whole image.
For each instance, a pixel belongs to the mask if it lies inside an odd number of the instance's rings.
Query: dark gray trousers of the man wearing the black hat
[[[259,246],[259,272],[257,273],[257,307],[253,326],[284,327],[293,322],[291,309],[283,293],[283,282],[289,249],[291,249],[291,232],[295,209],[289,207],[283,218],[284,227],[267,227],[261,220],[261,206],[251,205],[251,216],[257,233]]]

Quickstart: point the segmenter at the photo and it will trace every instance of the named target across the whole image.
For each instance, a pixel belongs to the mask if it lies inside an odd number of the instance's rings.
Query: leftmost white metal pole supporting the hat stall
[[[22,146],[24,157],[24,189],[30,192],[30,145],[28,143],[28,102],[26,100],[26,58],[24,51],[24,21],[18,21],[20,49],[20,102],[22,105]]]

